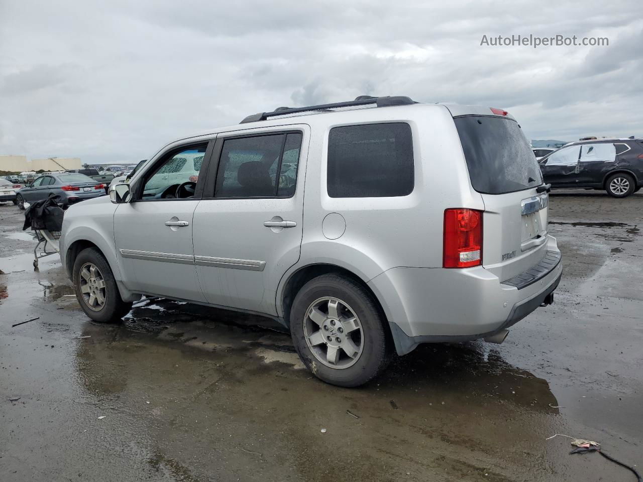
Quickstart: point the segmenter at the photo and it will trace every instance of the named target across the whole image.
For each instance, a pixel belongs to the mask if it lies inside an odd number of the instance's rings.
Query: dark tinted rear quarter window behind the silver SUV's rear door
[[[330,197],[410,194],[413,191],[411,127],[406,123],[390,123],[331,129],[327,190]]]

